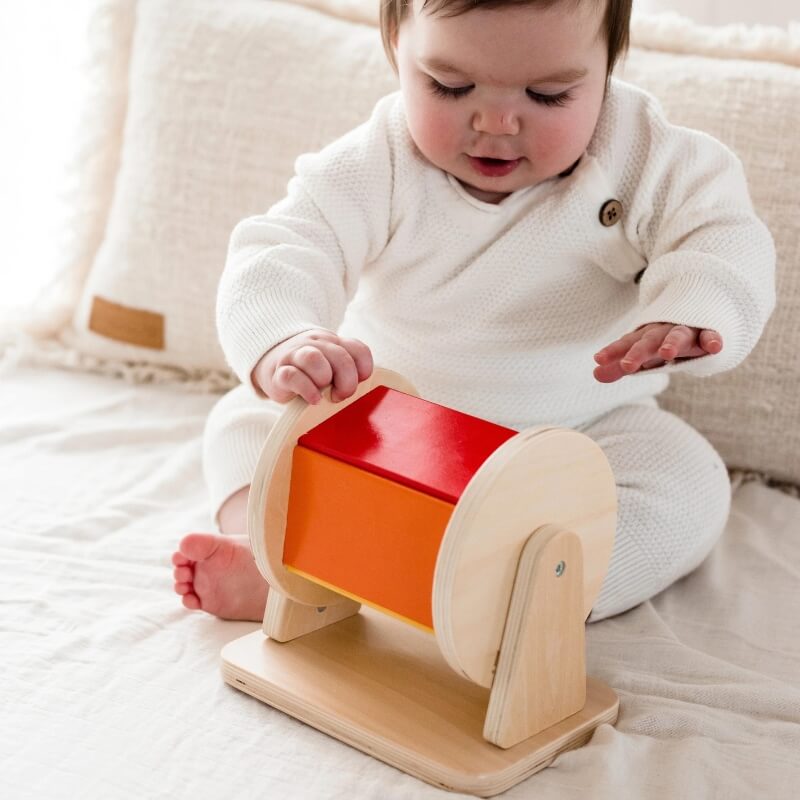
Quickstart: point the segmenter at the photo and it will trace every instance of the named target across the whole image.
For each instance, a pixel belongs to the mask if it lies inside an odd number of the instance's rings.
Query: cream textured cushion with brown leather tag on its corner
[[[139,0],[129,87],[105,239],[62,340],[226,369],[214,303],[231,230],[396,78],[372,26],[280,2]]]

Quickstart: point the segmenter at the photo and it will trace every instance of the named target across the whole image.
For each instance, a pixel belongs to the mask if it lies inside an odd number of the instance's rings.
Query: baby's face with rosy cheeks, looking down
[[[489,203],[571,167],[603,102],[605,3],[478,8],[457,17],[421,6],[414,0],[395,47],[420,152]]]

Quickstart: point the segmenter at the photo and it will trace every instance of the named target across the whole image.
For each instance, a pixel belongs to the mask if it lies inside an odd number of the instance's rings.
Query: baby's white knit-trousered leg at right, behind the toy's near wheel
[[[725,528],[731,485],[711,444],[655,402],[616,408],[579,429],[603,448],[617,484],[611,562],[588,619],[597,622],[700,565]]]

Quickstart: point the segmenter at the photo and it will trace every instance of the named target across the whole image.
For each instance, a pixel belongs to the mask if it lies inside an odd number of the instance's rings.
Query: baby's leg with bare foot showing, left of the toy
[[[175,591],[183,605],[223,619],[259,621],[267,583],[247,537],[247,496],[261,447],[280,413],[249,386],[225,395],[209,414],[203,469],[222,535],[190,533],[172,556]]]

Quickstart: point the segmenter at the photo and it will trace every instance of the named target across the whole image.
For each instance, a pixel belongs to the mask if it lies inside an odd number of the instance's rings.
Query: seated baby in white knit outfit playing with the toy
[[[725,465],[656,396],[752,350],[775,253],[741,165],[611,78],[631,0],[384,0],[400,91],[301,156],[234,230],[217,322],[242,385],[209,416],[223,534],[173,556],[183,604],[260,620],[250,476],[281,403],[349,397],[374,364],[422,397],[603,449],[618,492],[589,621],[691,572],[730,508]],[[390,557],[387,554],[387,557]]]

